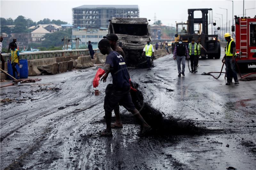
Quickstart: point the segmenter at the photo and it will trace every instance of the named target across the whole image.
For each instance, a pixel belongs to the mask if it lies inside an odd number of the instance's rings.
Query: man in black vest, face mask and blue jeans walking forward
[[[178,66],[178,77],[180,77],[182,74],[182,76],[185,76],[185,61],[186,58],[188,59],[188,48],[185,44],[182,43],[182,39],[179,39],[179,44],[177,44],[174,47],[173,50],[173,59],[177,60],[177,66]],[[180,68],[180,63],[182,64],[182,70]]]

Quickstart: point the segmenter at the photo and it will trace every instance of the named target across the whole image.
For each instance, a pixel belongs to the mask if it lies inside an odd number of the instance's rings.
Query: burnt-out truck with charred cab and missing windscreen
[[[142,56],[147,41],[151,41],[147,18],[112,18],[108,34],[115,33],[117,45],[124,50],[124,60],[130,67],[145,67],[146,56]]]

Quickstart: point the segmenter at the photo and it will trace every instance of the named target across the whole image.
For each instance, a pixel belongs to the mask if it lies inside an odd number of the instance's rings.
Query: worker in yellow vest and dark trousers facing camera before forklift
[[[191,63],[191,73],[196,72],[196,65],[197,65],[197,45],[195,43],[195,39],[192,38],[191,42],[188,44],[188,54]]]

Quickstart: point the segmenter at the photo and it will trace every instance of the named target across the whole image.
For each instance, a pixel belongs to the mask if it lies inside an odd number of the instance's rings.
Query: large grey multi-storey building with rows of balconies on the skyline
[[[75,28],[108,28],[112,17],[139,17],[138,5],[82,5],[72,11]]]

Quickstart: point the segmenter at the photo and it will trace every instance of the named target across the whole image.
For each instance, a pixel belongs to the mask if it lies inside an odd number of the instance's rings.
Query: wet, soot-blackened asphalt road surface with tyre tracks
[[[1,88],[1,99],[16,100],[1,103],[0,168],[256,169],[255,81],[227,86],[224,75],[219,80],[200,75],[220,71],[221,60],[200,60],[198,73],[189,73],[186,61],[186,76],[180,78],[172,55],[154,64],[150,71],[129,70],[145,99],[167,116],[192,119],[220,133],[139,137],[140,125],[120,107],[121,118],[131,121],[113,129],[113,137],[99,137],[95,133],[105,128],[104,90],[111,76],[100,82],[100,96],[95,96],[96,67],[73,70]],[[153,83],[143,83],[148,80]]]

